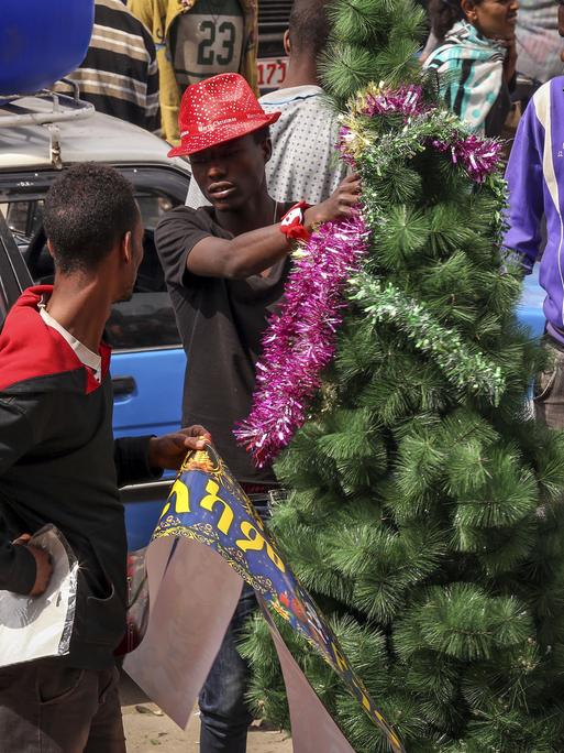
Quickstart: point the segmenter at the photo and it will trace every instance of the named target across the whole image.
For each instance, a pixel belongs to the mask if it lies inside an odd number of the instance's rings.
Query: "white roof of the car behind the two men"
[[[53,112],[53,102],[41,97],[21,97],[16,110],[45,117]],[[0,106],[0,171],[52,167],[51,131],[46,124],[2,126],[2,118],[12,116],[14,102]],[[91,108],[90,108],[91,109]],[[13,120],[13,118],[12,118]],[[153,133],[124,120],[101,112],[87,112],[81,119],[60,120],[54,117],[58,130],[63,165],[75,162],[104,162],[110,164],[162,163],[189,173],[188,163],[167,157],[170,146]]]

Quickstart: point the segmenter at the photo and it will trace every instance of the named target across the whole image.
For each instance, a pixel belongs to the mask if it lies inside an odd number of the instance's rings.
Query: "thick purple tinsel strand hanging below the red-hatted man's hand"
[[[367,251],[360,215],[327,222],[308,241],[288,277],[285,302],[263,340],[248,417],[234,434],[261,468],[288,445],[307,418],[321,372],[335,350],[343,287]]]

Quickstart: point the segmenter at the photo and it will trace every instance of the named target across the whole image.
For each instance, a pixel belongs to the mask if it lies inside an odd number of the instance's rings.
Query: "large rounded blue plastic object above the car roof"
[[[0,0],[0,95],[33,94],[86,56],[95,0]]]

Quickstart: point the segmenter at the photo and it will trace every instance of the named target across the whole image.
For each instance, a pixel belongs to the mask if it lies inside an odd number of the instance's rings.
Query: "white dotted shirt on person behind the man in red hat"
[[[268,193],[277,201],[324,201],[347,174],[335,150],[339,123],[319,86],[278,89],[258,100],[265,112],[280,111],[270,126],[273,155],[266,163]],[[186,204],[208,201],[190,182]]]

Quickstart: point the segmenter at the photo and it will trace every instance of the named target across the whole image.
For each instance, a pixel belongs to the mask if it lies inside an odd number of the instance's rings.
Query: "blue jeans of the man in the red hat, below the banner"
[[[267,517],[265,503],[254,503],[261,517]],[[236,643],[246,619],[257,608],[251,586],[241,599],[218,656],[200,692],[200,753],[245,753],[246,733],[253,717],[245,703],[248,665]]]

